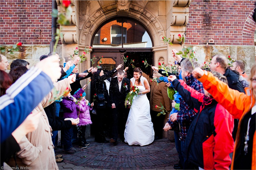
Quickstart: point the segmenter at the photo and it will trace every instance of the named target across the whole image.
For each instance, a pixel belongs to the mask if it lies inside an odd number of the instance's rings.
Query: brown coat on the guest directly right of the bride
[[[157,83],[155,81],[150,81],[153,78],[150,78],[148,75],[146,75],[145,73],[142,73],[142,76],[145,77],[148,80],[150,87],[150,109],[152,111],[159,111],[159,108],[155,108],[156,105],[158,105],[159,107],[161,107],[160,102],[162,103],[162,105],[164,106],[164,108],[167,111],[170,111],[172,109],[172,105],[171,105],[171,100],[168,97],[167,94],[167,86],[165,84],[165,82],[160,82]]]

